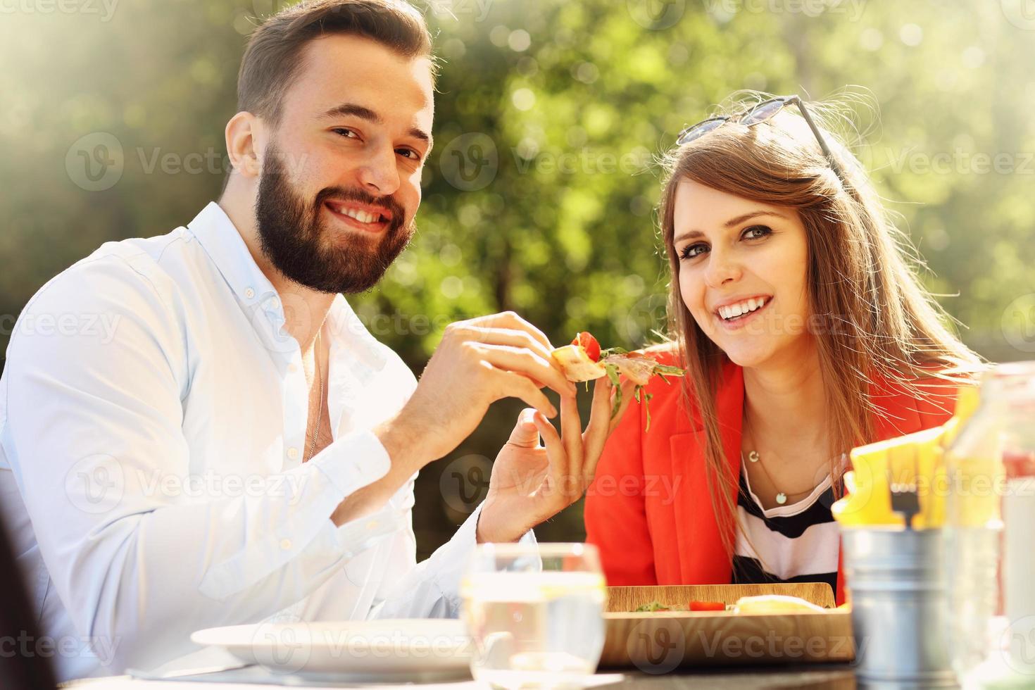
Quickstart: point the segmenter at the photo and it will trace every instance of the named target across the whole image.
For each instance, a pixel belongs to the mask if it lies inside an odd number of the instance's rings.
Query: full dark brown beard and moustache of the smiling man
[[[391,197],[374,197],[358,188],[325,187],[312,203],[295,192],[279,150],[266,147],[256,223],[263,253],[290,280],[322,293],[355,294],[369,290],[410,243],[414,223]],[[380,237],[348,232],[324,222],[324,202],[354,201],[383,206],[391,212]]]

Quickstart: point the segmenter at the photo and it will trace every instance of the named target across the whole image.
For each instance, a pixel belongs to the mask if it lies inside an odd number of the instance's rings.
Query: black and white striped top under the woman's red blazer
[[[741,468],[733,583],[827,582],[836,593],[840,530],[830,514],[833,502],[828,476],[807,498],[765,510]]]

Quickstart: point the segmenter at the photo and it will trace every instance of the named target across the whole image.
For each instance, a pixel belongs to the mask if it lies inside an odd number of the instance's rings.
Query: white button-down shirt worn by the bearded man
[[[413,478],[378,513],[330,520],[388,472],[368,429],[413,374],[337,296],[334,443],[302,463],[308,391],[286,308],[304,314],[211,203],[168,235],[106,243],[20,314],[0,504],[62,680],[198,663],[189,635],[212,626],[457,614],[480,509],[420,565]]]

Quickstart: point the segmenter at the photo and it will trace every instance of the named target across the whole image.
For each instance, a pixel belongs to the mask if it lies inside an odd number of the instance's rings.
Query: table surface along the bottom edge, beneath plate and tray
[[[216,674],[211,674],[216,676]],[[474,681],[456,683],[318,683],[304,681],[280,683],[240,683],[212,678],[208,681],[144,681],[128,676],[106,679],[72,681],[63,687],[72,690],[255,690],[256,688],[407,688],[409,690],[476,690],[486,685]],[[855,673],[847,664],[796,664],[782,666],[698,667],[679,668],[663,674],[651,674],[635,669],[601,669],[587,679],[586,687],[613,690],[668,690],[669,688],[708,688],[709,690],[739,690],[741,688],[806,690],[853,690]]]

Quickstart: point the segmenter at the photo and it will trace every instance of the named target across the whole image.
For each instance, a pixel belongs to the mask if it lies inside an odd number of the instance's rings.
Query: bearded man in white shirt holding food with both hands
[[[532,541],[592,478],[610,386],[583,434],[536,328],[513,313],[453,324],[418,385],[339,294],[375,286],[414,231],[433,86],[408,5],[271,18],[242,61],[218,203],[105,244],[20,316],[0,490],[34,612],[65,646],[62,680],[197,664],[193,631],[274,614],[456,616],[474,544]],[[41,327],[68,313],[114,335]],[[542,387],[561,396],[563,440]],[[485,502],[418,566],[415,474],[506,396],[534,410]]]

